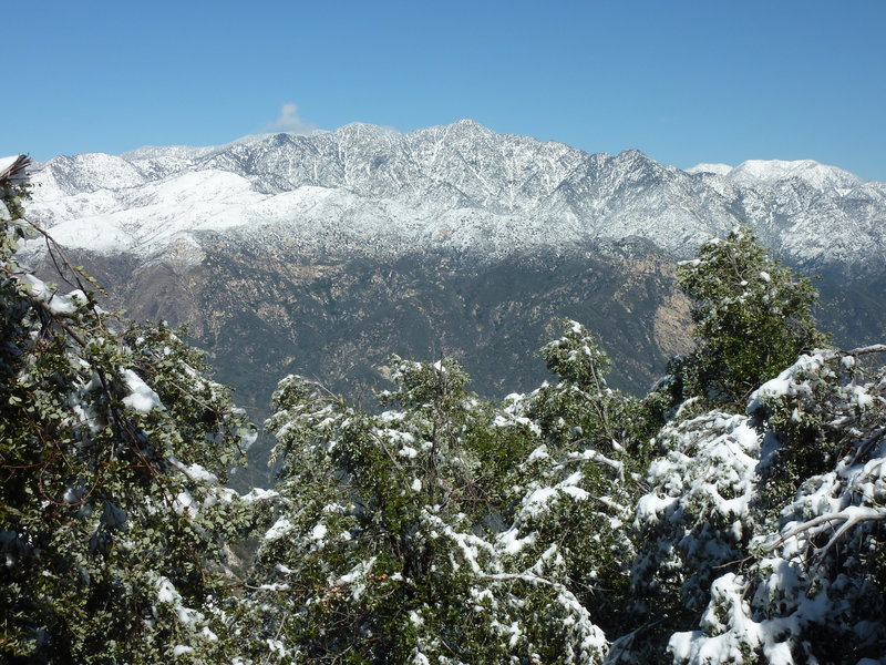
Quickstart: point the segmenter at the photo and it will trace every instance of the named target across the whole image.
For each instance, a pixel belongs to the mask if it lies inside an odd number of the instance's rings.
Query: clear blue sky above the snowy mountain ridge
[[[10,4],[0,155],[470,117],[680,167],[886,181],[884,0]]]

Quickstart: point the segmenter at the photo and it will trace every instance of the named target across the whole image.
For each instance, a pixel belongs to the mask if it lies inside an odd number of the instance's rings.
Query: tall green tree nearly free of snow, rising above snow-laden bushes
[[[678,269],[692,298],[698,349],[677,368],[680,400],[740,403],[827,336],[812,320],[817,291],[766,255],[744,227],[699,248]]]

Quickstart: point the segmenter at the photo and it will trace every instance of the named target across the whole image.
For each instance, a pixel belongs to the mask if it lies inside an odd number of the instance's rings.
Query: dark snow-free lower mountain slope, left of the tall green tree
[[[447,254],[390,259],[253,253],[218,242],[185,273],[74,252],[134,319],[187,323],[239,401],[267,406],[287,374],[333,392],[384,387],[391,354],[453,356],[490,397],[547,378],[538,349],[559,318],[586,321],[618,359],[612,382],[641,391],[689,348],[688,303],[660,253],[518,255],[467,265]]]

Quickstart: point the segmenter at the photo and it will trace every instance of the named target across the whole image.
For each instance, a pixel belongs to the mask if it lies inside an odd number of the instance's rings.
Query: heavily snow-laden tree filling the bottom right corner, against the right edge
[[[874,352],[886,347],[801,356],[752,395],[749,554],[715,571],[699,628],[670,640],[674,663],[884,662],[886,368],[862,367]]]

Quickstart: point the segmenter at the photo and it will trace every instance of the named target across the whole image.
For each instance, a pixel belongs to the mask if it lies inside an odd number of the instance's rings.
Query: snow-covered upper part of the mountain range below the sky
[[[834,166],[684,172],[633,150],[589,154],[472,121],[56,157],[32,180],[31,215],[62,245],[143,258],[174,250],[197,262],[204,238],[219,233],[305,250],[439,248],[485,259],[639,236],[688,256],[739,223],[797,263],[886,257],[886,185]]]

